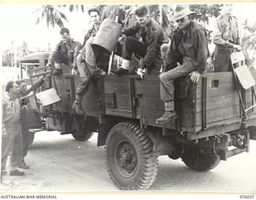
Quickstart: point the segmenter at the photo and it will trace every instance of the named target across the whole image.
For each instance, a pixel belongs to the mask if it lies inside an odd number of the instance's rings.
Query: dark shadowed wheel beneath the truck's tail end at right
[[[192,170],[207,171],[218,166],[220,159],[214,154],[201,154],[198,146],[190,146],[182,154],[182,161]]]

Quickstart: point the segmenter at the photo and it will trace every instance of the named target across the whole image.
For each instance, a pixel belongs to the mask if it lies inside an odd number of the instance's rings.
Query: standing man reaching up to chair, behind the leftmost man
[[[48,69],[48,71],[50,72],[50,69]],[[22,168],[24,170],[29,169],[30,167],[26,165],[25,162],[25,157],[29,148],[29,139],[30,139],[30,135],[29,135],[29,129],[26,126],[26,110],[28,109],[26,107],[26,104],[29,102],[29,97],[28,95],[30,94],[31,91],[36,90],[39,86],[42,86],[42,84],[45,82],[45,76],[42,76],[40,78],[38,78],[38,80],[36,82],[34,82],[34,85],[31,86],[29,89],[27,89],[26,86],[26,81],[25,80],[18,80],[16,81],[17,85],[18,85],[18,89],[20,92],[19,95],[19,102],[21,104],[21,107],[24,106],[26,109],[22,109],[21,110],[21,126],[22,126],[22,141],[23,141],[23,151],[22,151],[22,159],[21,162],[19,163],[18,167]]]

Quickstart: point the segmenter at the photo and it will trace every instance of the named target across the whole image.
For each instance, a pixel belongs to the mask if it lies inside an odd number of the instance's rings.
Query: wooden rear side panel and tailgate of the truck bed
[[[255,71],[252,74],[256,78]],[[147,125],[159,126],[154,122],[164,113],[164,103],[160,99],[158,76],[147,75],[144,80],[128,75],[108,76],[104,78],[103,85],[103,94],[107,97],[106,114],[141,119]],[[166,128],[179,128],[195,134],[242,121],[232,72],[205,74],[198,84],[191,84],[188,77],[180,78],[175,85],[179,121],[166,124]],[[246,90],[245,97],[248,107],[252,104],[250,90]],[[255,109],[248,118],[256,118]]]

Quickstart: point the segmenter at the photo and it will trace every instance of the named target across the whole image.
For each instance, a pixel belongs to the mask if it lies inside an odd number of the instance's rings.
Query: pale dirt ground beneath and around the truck
[[[118,191],[106,171],[104,146],[97,147],[97,134],[78,142],[70,134],[42,131],[26,157],[30,166],[24,177],[3,176],[2,192]],[[178,160],[158,158],[158,176],[149,190],[192,192],[256,192],[256,141],[250,153],[221,162],[209,172],[194,172]]]

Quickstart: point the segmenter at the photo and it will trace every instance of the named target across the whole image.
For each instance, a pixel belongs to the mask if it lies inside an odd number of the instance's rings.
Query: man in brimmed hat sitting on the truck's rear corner
[[[170,122],[177,116],[174,110],[174,80],[190,74],[191,82],[198,82],[201,74],[206,72],[209,55],[206,30],[191,21],[190,14],[193,13],[188,6],[177,6],[174,12],[172,20],[178,23],[178,30],[174,31],[166,56],[166,65],[171,70],[160,74],[160,96],[165,102],[166,112],[156,123]]]

